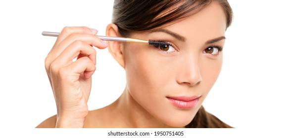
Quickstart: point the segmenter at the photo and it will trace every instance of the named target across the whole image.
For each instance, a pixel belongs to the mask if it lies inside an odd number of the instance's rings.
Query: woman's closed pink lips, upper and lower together
[[[167,97],[167,99],[170,101],[170,103],[174,104],[176,107],[193,108],[198,103],[199,97],[181,96],[181,97]]]

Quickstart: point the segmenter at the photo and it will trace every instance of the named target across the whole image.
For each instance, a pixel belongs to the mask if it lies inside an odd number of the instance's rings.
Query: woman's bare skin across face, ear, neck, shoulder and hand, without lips
[[[222,52],[217,47],[224,45],[226,16],[212,2],[197,14],[159,29],[130,37],[165,40],[170,49],[108,42],[109,52],[126,71],[126,88],[114,103],[88,111],[96,69],[91,45],[100,49],[107,45],[94,36],[96,30],[65,27],[46,59],[57,114],[37,128],[183,128],[189,124],[220,73]],[[106,35],[118,36],[117,26],[109,24]],[[179,108],[168,99],[180,96],[196,96],[198,102],[192,108]]]

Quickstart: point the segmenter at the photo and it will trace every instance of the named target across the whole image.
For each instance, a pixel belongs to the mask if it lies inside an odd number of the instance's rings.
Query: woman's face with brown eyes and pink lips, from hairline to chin
[[[186,126],[220,73],[225,30],[225,13],[212,2],[185,20],[151,33],[132,34],[169,45],[128,43],[123,47],[126,90],[162,123]]]

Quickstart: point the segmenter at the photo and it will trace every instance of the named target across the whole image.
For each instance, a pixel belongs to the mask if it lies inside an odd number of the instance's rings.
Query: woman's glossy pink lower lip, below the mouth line
[[[191,101],[181,101],[177,99],[168,98],[170,103],[174,104],[176,107],[179,108],[193,108],[198,103],[198,98],[191,100]]]

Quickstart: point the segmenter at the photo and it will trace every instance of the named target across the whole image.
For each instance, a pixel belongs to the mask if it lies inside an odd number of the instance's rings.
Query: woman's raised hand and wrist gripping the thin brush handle
[[[65,27],[45,61],[56,107],[56,127],[82,128],[88,114],[91,76],[96,69],[96,50],[107,47],[87,27]],[[77,60],[73,62],[73,59]]]

